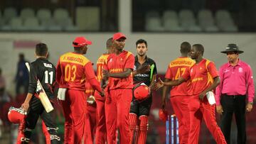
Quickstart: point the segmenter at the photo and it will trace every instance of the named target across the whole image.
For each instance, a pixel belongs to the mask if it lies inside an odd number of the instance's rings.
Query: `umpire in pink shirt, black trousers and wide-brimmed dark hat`
[[[216,89],[216,109],[222,116],[220,128],[230,144],[230,126],[235,113],[238,144],[246,143],[245,111],[252,111],[255,87],[250,65],[238,58],[243,51],[238,45],[228,44],[225,51],[228,62],[220,67],[220,85]],[[247,99],[246,99],[247,98]]]

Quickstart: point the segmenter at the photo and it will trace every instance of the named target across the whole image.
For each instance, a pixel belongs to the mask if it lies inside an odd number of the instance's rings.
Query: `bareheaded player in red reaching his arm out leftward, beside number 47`
[[[206,98],[206,93],[213,91],[220,84],[218,70],[213,62],[203,58],[204,48],[201,44],[195,44],[191,50],[191,58],[196,60],[196,64],[178,79],[169,82],[157,82],[156,89],[164,85],[176,86],[188,79],[191,79],[191,89],[193,91],[189,99],[188,109],[190,113],[190,130],[188,134],[188,143],[197,144],[201,121],[204,119],[206,126],[213,135],[216,143],[226,144],[224,135],[215,121],[215,104],[210,105]]]

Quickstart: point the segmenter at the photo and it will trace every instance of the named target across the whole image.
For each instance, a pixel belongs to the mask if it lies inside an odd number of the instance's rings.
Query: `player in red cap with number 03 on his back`
[[[63,105],[65,116],[65,143],[82,143],[85,134],[85,78],[94,89],[101,92],[92,62],[84,56],[87,45],[91,44],[90,40],[77,37],[73,41],[74,52],[67,52],[58,60],[56,80],[60,85],[58,99]]]

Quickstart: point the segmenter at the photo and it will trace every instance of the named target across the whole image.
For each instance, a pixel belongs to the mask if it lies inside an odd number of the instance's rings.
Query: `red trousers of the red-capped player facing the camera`
[[[107,144],[117,143],[117,128],[120,143],[129,144],[129,109],[132,102],[132,89],[112,89],[106,93],[105,114]]]

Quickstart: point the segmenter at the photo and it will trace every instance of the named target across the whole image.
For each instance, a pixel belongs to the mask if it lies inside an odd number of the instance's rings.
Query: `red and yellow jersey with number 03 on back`
[[[85,90],[85,78],[94,77],[92,63],[82,54],[67,52],[60,56],[56,66],[56,79],[60,87]]]

